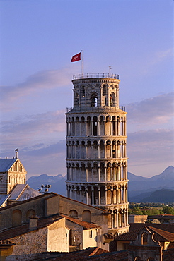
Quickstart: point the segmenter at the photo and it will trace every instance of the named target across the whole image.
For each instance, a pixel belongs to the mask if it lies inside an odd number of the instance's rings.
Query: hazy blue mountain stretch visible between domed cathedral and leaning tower
[[[66,196],[66,176],[57,175],[57,176],[48,176],[47,174],[42,174],[40,176],[31,176],[28,178],[28,185],[31,188],[37,190],[37,188],[41,188],[41,185],[49,184],[51,188],[50,192],[54,192],[57,194],[61,194]]]

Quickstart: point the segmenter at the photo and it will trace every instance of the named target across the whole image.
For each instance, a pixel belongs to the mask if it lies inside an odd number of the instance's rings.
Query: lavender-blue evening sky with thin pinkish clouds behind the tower
[[[66,175],[66,107],[84,73],[120,75],[128,171],[174,159],[173,0],[1,0],[0,157],[30,176]]]

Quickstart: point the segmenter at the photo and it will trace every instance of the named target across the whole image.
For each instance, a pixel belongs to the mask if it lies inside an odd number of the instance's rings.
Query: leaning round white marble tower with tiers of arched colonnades
[[[67,196],[100,207],[111,233],[129,229],[127,133],[119,76],[74,75],[74,107],[66,111]]]

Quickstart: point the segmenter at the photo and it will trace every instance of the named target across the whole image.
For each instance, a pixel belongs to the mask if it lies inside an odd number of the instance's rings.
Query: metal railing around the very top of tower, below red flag
[[[111,78],[119,79],[118,74],[113,73],[82,73],[73,75],[73,80],[86,79],[86,78]]]

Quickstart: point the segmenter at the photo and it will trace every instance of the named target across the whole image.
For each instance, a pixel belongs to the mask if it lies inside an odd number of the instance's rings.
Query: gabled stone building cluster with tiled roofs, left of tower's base
[[[109,250],[112,239],[104,210],[62,195],[45,193],[1,207],[0,257],[6,260],[36,260],[45,251]]]

